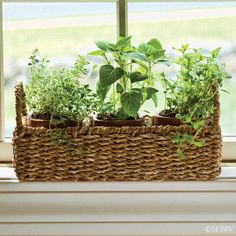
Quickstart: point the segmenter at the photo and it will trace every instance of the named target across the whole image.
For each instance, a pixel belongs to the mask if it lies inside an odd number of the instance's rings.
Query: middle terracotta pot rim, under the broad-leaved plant
[[[123,127],[123,126],[143,126],[143,119],[137,120],[98,120],[94,118],[93,126]]]

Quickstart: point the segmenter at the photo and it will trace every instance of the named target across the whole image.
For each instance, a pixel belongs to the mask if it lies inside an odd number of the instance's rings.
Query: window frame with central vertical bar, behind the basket
[[[177,2],[167,0],[165,2]],[[228,0],[181,0],[181,2],[226,2]],[[234,2],[236,0],[229,0]],[[117,35],[126,36],[128,33],[128,2],[158,2],[158,0],[0,0],[0,163],[10,162],[13,159],[11,140],[4,137],[4,72],[3,72],[3,27],[2,3],[53,3],[53,2],[115,2],[117,4]],[[160,1],[159,1],[160,2]],[[236,162],[236,136],[223,137],[223,160]]]

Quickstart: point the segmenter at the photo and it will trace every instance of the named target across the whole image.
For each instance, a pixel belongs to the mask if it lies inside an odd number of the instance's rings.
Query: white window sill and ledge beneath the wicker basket
[[[0,173],[0,235],[236,235],[235,167],[194,182],[18,183],[12,169]]]

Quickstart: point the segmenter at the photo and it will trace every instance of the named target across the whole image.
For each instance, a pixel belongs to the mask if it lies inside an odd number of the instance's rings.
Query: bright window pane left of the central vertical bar
[[[55,66],[116,40],[115,3],[4,3],[5,136],[15,127],[14,84],[26,82],[28,58],[38,48]]]

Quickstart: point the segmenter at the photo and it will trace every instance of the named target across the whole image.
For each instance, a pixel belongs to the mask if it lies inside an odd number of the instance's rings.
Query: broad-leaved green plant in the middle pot
[[[165,51],[157,39],[131,44],[131,37],[117,43],[97,41],[98,51],[90,55],[102,56],[105,63],[99,69],[97,95],[100,113],[113,114],[115,118],[137,118],[145,101],[152,99],[157,105],[153,67],[165,60]]]

